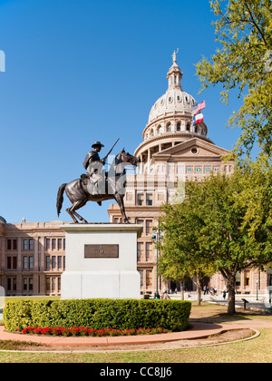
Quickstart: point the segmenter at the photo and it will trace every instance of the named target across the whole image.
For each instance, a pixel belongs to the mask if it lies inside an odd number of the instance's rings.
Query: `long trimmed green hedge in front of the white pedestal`
[[[9,331],[26,327],[163,327],[182,331],[188,327],[190,308],[191,303],[183,300],[19,299],[6,301],[3,316]]]

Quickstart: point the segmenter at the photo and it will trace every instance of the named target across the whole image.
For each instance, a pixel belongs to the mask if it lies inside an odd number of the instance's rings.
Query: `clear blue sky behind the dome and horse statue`
[[[177,48],[182,87],[205,99],[209,138],[231,149],[226,129],[238,110],[220,103],[220,88],[198,94],[195,64],[215,52],[208,0],[0,1],[0,215],[8,222],[57,220],[56,193],[78,178],[92,142],[106,153],[134,152],[151,106],[167,90]],[[81,214],[108,221],[110,202],[89,202]],[[70,221],[65,208],[60,220]]]

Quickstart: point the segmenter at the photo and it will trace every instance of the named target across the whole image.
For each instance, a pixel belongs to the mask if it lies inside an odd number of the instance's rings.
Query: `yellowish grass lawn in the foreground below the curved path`
[[[218,347],[113,353],[0,352],[1,363],[271,363],[272,329],[253,340]]]

